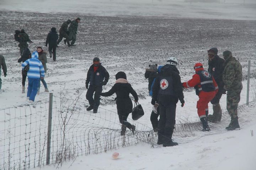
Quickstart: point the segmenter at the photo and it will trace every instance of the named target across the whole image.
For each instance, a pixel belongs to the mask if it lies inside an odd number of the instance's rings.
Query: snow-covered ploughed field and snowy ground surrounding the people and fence
[[[69,1],[61,1],[61,5],[60,1],[52,3],[48,0],[40,3],[32,0],[24,0],[22,4],[18,2],[0,1],[0,53],[4,55],[7,64],[7,77],[1,75],[0,109],[27,103],[26,95],[21,94],[21,65],[17,63],[19,53],[14,31],[25,29],[34,42],[29,44],[31,51],[36,50],[37,46],[43,46],[47,51],[44,44],[50,28],[56,27],[58,30],[63,21],[76,17],[81,18],[76,46],[67,47],[61,42],[57,49],[57,61],[53,62],[48,57],[46,82],[55,97],[75,99],[80,96],[79,101],[85,102],[87,106],[86,73],[92,59],[100,57],[102,65],[110,73],[110,80],[103,87],[103,91],[114,85],[114,75],[118,71],[126,72],[128,81],[139,95],[139,102],[145,111],[138,123],[151,128],[152,106],[147,90],[148,80],[144,78],[145,68],[152,63],[165,64],[168,57],[174,56],[179,61],[181,80],[187,81],[194,73],[194,63],[202,62],[208,68],[207,50],[217,47],[220,57],[223,51],[230,50],[242,64],[244,89],[239,105],[246,103],[247,62],[251,60],[250,101],[255,98],[254,1],[251,1],[252,5],[245,6],[238,0],[236,4],[230,4],[234,2],[231,0],[226,0],[229,2],[226,4],[190,4],[164,0],[143,0],[136,3],[117,0],[72,1],[73,5]],[[197,96],[194,90],[185,91],[184,95],[185,107],[181,108],[180,103],[177,104],[176,123],[196,123],[199,121],[195,107]],[[48,93],[41,92],[36,96],[36,101],[44,100],[48,96]],[[103,111],[107,109],[112,113],[116,112],[116,105],[112,102],[114,97],[102,97],[100,107]],[[223,111],[226,111],[225,102],[224,95],[220,102]],[[59,101],[55,104],[59,104]],[[211,104],[209,111],[211,114]],[[72,161],[67,162],[61,169],[253,170],[256,167],[256,147],[253,145],[255,136],[251,137],[250,130],[256,129],[255,104],[240,109],[239,114],[240,131],[224,130],[229,121],[225,115],[220,125],[210,124],[212,132],[204,132],[205,135],[202,135],[203,132],[199,129],[193,130],[189,143],[188,137],[182,139],[178,136],[180,134],[174,134],[180,143],[177,147],[162,148],[153,145],[156,148],[151,148],[149,144],[140,143],[115,150],[120,154],[117,160],[113,160],[112,151],[108,151],[78,157],[73,164]],[[1,120],[5,116],[0,115]],[[112,128],[118,130],[118,120],[114,118],[112,121],[116,121]],[[0,143],[3,135],[0,134]]]

